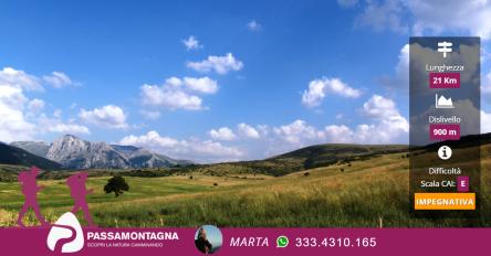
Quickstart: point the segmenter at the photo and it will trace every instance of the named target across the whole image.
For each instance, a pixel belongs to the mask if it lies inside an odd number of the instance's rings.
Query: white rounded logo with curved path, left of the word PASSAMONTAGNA
[[[51,250],[55,250],[56,243],[60,239],[64,239],[62,246],[62,253],[75,253],[82,249],[84,246],[84,234],[82,226],[80,225],[76,216],[71,213],[64,213],[51,227],[48,235],[48,247]],[[66,242],[65,242],[66,241]]]

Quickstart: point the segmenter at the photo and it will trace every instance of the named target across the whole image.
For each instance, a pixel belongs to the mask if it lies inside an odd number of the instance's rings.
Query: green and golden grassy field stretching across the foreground
[[[90,209],[100,226],[415,227],[491,225],[491,147],[482,148],[481,217],[415,218],[408,213],[408,160],[389,153],[283,177],[217,177],[202,172],[160,178],[125,177],[130,189],[104,194],[108,177],[91,178]],[[343,169],[343,171],[341,171]],[[194,179],[189,179],[194,175]],[[247,179],[245,179],[247,178]],[[42,212],[55,221],[72,205],[63,180],[45,180]],[[215,185],[217,183],[217,185]],[[0,226],[13,226],[23,203],[15,182],[0,183]],[[82,220],[82,214],[80,214]],[[25,218],[35,224],[33,214]]]

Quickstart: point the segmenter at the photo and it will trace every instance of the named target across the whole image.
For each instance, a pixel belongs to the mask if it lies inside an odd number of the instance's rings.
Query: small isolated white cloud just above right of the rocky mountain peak
[[[93,110],[81,109],[79,117],[85,122],[103,128],[125,129],[128,127],[126,114],[121,107],[114,105],[94,108]]]

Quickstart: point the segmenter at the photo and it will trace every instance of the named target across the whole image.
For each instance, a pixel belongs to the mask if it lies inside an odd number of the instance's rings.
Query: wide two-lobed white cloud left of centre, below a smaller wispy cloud
[[[191,93],[215,94],[218,83],[208,76],[169,77],[163,86],[143,85],[140,87],[142,102],[145,105],[163,106],[169,109],[200,110],[202,99]]]

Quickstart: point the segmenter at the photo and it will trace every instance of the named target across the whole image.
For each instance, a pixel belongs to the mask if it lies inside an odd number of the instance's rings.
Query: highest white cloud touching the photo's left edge
[[[12,67],[3,67],[0,71],[0,84],[8,84],[25,90],[43,90],[38,77]]]

